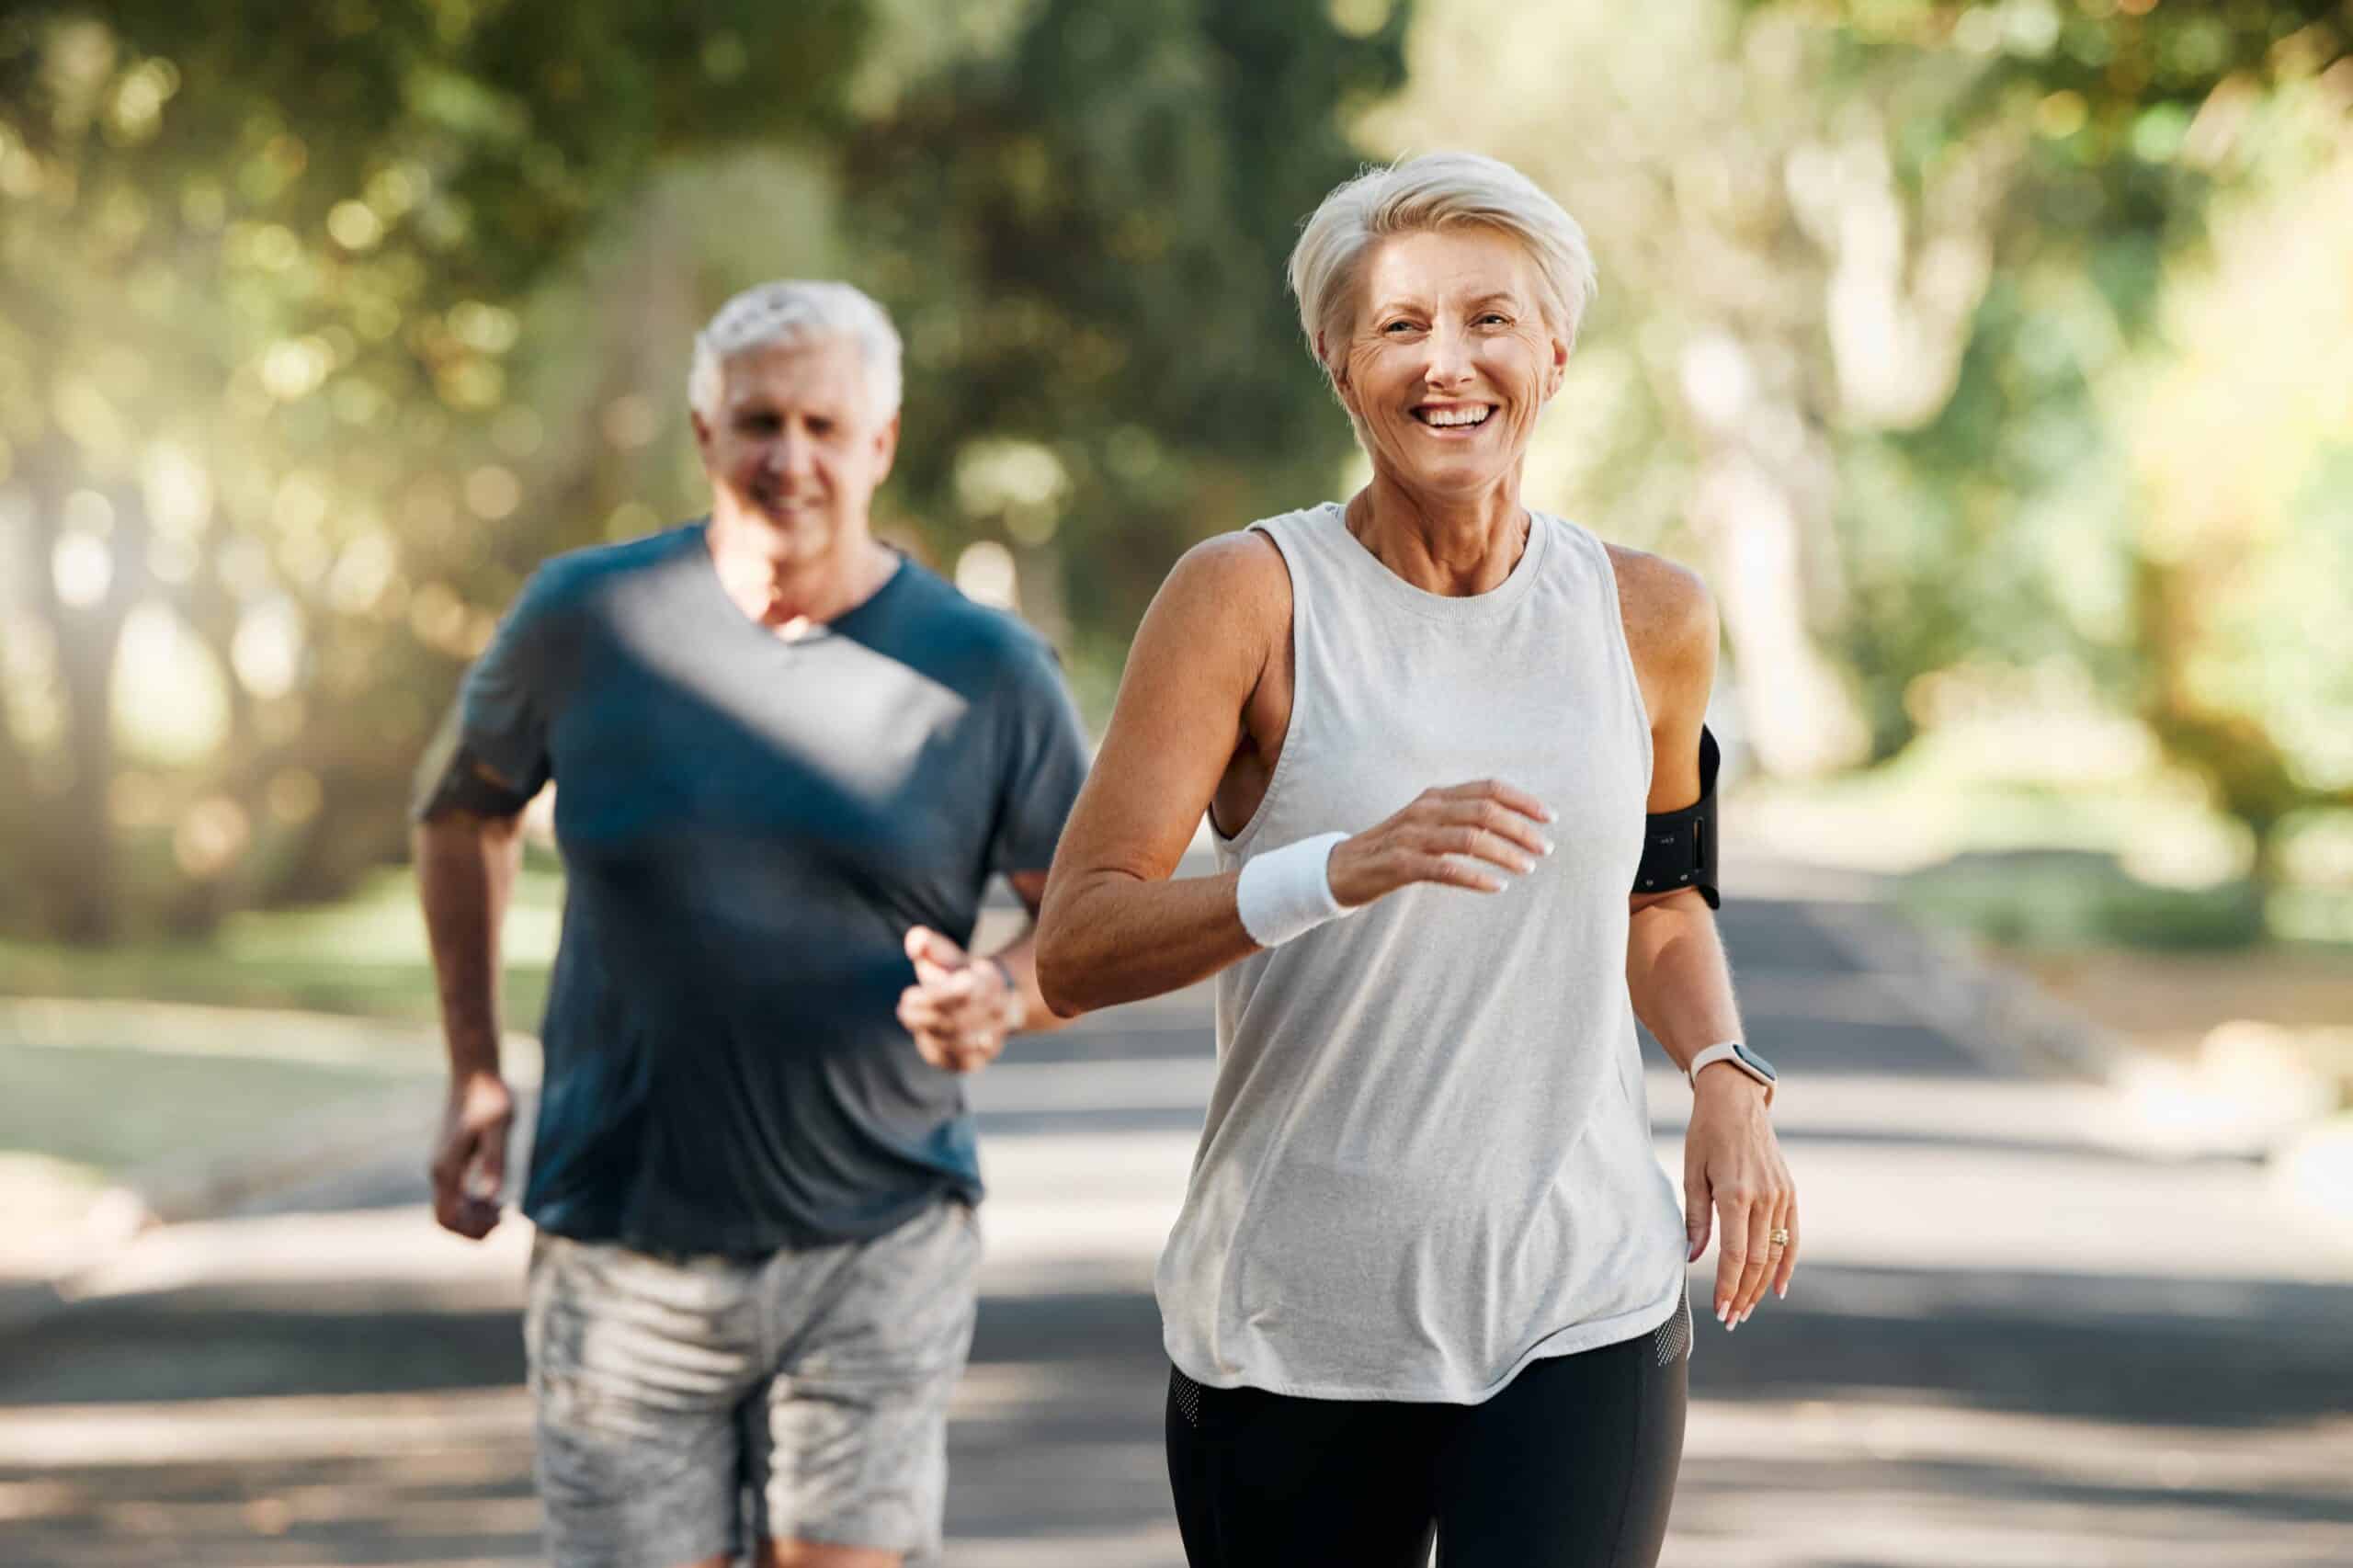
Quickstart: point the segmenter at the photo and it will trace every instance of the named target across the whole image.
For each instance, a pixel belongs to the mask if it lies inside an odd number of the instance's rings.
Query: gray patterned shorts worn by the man
[[[979,1222],[652,1257],[541,1234],[522,1337],[558,1568],[668,1568],[762,1537],[939,1556]]]

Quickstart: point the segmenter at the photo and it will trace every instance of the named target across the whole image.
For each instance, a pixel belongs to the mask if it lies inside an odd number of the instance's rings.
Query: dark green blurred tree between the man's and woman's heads
[[[908,339],[899,497],[941,556],[1009,546],[1101,692],[1188,544],[1322,499],[1353,450],[1282,264],[1405,7],[951,7],[962,38],[929,9],[878,40],[842,155]]]

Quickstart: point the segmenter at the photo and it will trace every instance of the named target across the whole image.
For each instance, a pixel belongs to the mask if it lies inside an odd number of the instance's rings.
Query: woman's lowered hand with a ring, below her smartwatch
[[[1765,1114],[1765,1085],[1725,1062],[1699,1069],[1692,1125],[1682,1137],[1689,1260],[1708,1250],[1715,1215],[1725,1222],[1715,1250],[1715,1321],[1739,1328],[1767,1285],[1788,1295],[1788,1276],[1798,1269],[1798,1187]]]

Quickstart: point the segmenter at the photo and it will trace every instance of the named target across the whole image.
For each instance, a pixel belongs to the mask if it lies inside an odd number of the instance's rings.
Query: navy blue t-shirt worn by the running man
[[[1087,772],[1052,650],[901,560],[800,640],[704,525],[548,560],[466,673],[419,815],[555,779],[565,928],[525,1212],[656,1253],[878,1236],[979,1198],[962,1081],[896,1019]]]

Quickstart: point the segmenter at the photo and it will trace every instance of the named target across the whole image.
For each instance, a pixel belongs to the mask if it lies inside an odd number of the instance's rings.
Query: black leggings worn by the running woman
[[[1682,1462],[1692,1309],[1527,1363],[1480,1406],[1289,1398],[1169,1375],[1193,1568],[1652,1568]]]

